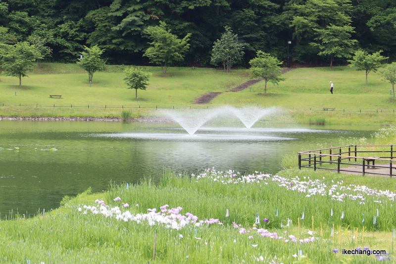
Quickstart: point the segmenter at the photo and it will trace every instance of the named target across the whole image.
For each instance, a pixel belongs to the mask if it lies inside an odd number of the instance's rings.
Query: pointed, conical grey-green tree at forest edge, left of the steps
[[[244,56],[245,46],[238,41],[236,34],[232,34],[230,27],[224,28],[226,32],[213,45],[211,62],[214,64],[222,62],[224,71],[230,72],[231,66],[241,61]]]

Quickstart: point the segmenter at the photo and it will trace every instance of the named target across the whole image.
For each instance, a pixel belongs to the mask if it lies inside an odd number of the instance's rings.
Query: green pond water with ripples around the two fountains
[[[379,127],[208,124],[188,134],[178,123],[0,121],[0,214],[54,209],[65,195],[110,180],[136,183],[161,171],[205,168],[275,174],[284,154],[371,138]],[[19,148],[19,149],[18,149]],[[51,150],[52,149],[52,150]],[[56,149],[56,150],[55,150]]]

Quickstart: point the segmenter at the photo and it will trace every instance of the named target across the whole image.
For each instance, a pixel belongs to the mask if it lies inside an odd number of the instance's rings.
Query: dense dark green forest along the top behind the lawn
[[[210,66],[226,27],[244,46],[241,67],[258,50],[284,66],[288,54],[292,66],[330,65],[328,48],[343,50],[337,65],[359,49],[396,59],[395,0],[0,0],[0,43],[41,46],[53,62],[98,45],[107,64],[148,65],[147,28],[160,22],[179,39],[191,34],[178,66]]]

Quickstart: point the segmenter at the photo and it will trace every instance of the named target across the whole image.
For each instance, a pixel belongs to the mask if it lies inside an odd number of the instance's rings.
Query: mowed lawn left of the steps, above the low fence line
[[[107,104],[107,105],[186,105],[208,91],[225,91],[248,80],[247,71],[226,74],[215,69],[171,68],[165,76],[160,67],[144,67],[152,76],[147,90],[127,89],[122,66],[107,66],[94,74],[92,87],[88,74],[74,64],[42,64],[23,78],[1,76],[1,103]],[[15,91],[17,95],[15,96]],[[50,98],[50,94],[62,97]]]

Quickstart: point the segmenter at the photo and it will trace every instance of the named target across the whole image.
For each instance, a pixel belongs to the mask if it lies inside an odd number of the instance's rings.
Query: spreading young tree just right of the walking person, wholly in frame
[[[365,50],[357,50],[355,51],[353,58],[348,60],[350,67],[356,67],[356,71],[366,72],[366,84],[367,75],[370,73],[370,71],[376,72],[378,68],[381,67],[381,62],[388,58],[381,56],[381,52],[382,50],[374,52],[373,54],[368,54],[368,52]]]

